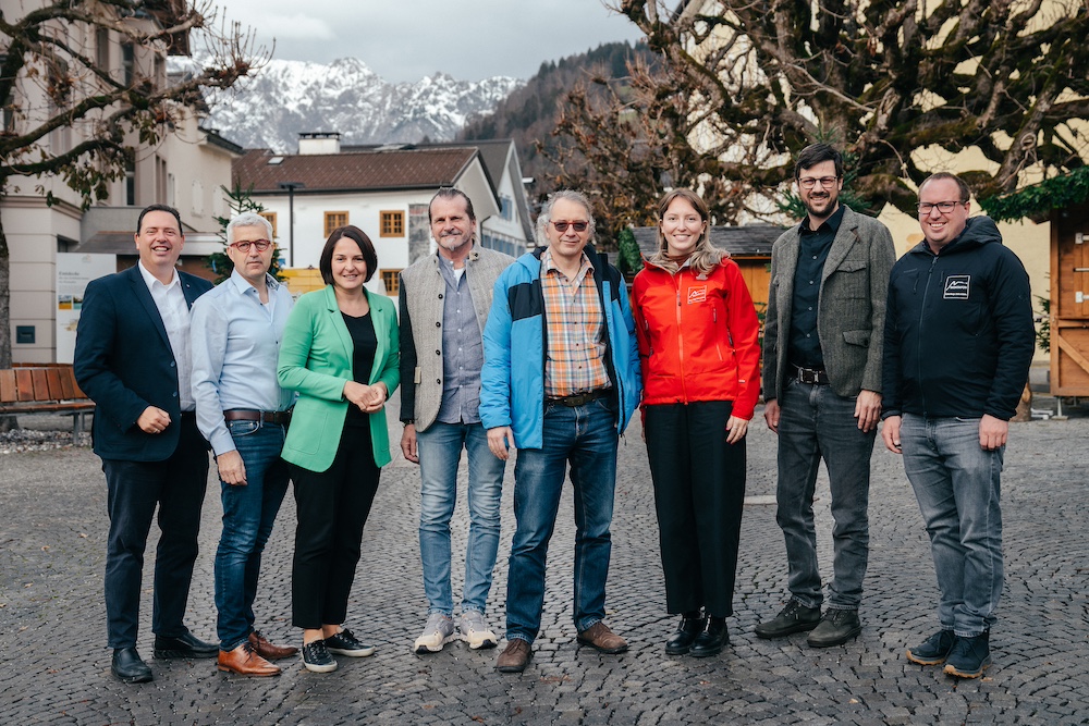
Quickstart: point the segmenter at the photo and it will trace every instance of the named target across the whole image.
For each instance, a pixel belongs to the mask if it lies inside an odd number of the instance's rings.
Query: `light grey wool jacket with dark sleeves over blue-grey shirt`
[[[477,244],[465,260],[478,334],[488,322],[495,280],[513,261],[510,255]],[[401,272],[401,420],[414,421],[417,431],[426,431],[435,422],[442,405],[441,323],[445,291],[437,254],[416,260]],[[427,355],[431,350],[436,355]],[[417,356],[417,352],[423,355]]]

